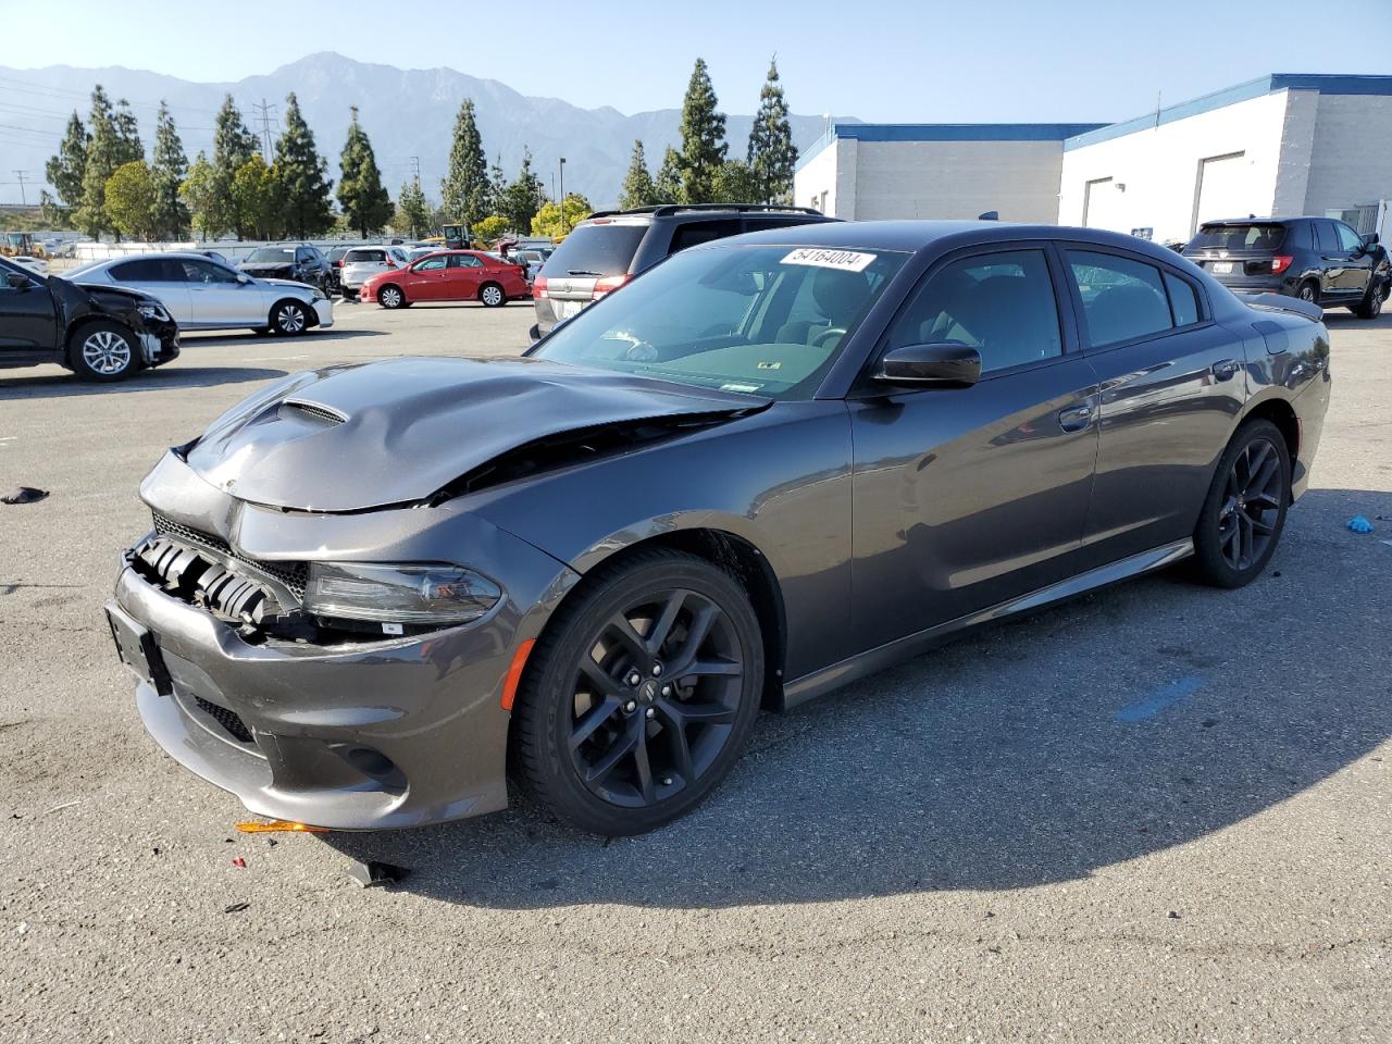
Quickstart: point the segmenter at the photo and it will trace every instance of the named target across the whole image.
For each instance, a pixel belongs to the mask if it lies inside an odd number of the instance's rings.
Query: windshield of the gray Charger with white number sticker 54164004
[[[557,327],[533,355],[807,398],[906,258],[820,246],[678,253]]]

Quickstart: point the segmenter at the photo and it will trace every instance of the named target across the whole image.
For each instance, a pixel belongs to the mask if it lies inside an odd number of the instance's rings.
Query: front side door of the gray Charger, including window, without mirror
[[[1069,579],[1097,458],[1097,379],[1059,306],[1043,241],[938,262],[880,354],[965,344],[965,388],[869,387],[849,400],[853,619],[862,647]]]

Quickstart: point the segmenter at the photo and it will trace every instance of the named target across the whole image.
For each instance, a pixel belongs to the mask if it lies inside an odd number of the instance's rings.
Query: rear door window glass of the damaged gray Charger
[[[1175,326],[1160,269],[1114,253],[1068,251],[1094,348],[1134,341]]]

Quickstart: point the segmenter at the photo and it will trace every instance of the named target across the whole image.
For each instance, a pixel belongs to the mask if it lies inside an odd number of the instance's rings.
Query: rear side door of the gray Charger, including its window
[[[1193,536],[1246,401],[1246,358],[1242,335],[1211,320],[1201,288],[1178,269],[1112,248],[1062,246],[1100,388],[1080,553],[1091,569]]]

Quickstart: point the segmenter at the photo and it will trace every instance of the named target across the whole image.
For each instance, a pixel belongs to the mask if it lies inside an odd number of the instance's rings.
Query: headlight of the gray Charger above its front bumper
[[[466,624],[503,590],[458,565],[312,562],[303,607],[317,617],[381,624]]]

